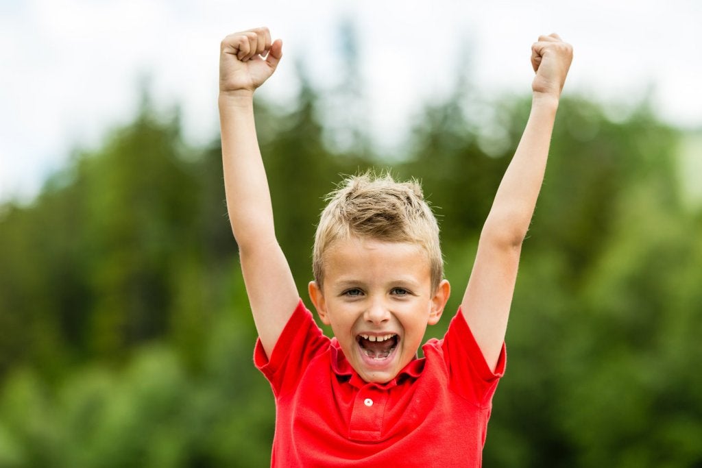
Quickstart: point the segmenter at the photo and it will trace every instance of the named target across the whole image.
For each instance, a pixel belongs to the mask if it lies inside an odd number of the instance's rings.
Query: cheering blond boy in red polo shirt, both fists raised
[[[324,209],[309,293],[333,339],[298,297],[275,238],[253,120],[253,92],[281,58],[282,41],[271,41],[266,28],[221,44],[227,207],[258,330],[254,359],[276,399],[272,464],[479,466],[571,46],[556,34],[532,46],[527,127],[482,229],[461,307],[444,338],[423,346],[423,359],[416,352],[450,287],[437,222],[412,182],[351,178]]]

